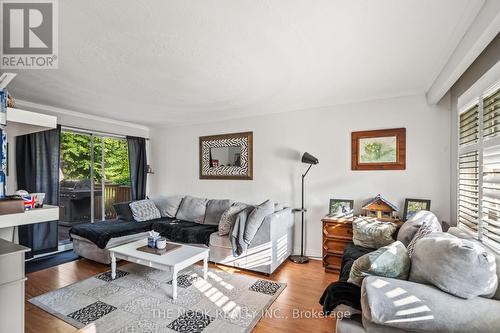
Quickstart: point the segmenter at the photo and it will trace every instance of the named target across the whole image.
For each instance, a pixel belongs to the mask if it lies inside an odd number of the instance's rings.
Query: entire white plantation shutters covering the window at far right
[[[458,226],[500,251],[500,82],[458,117]]]

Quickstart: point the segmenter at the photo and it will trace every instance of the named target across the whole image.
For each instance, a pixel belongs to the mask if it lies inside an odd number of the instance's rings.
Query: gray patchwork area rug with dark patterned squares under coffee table
[[[76,328],[97,333],[250,332],[285,283],[201,267],[178,275],[173,300],[170,272],[127,264],[29,300]]]

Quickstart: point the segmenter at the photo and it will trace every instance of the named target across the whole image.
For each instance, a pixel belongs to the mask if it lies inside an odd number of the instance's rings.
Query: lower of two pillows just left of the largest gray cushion
[[[356,259],[347,282],[361,287],[368,275],[407,280],[410,272],[410,258],[403,243],[396,241]]]

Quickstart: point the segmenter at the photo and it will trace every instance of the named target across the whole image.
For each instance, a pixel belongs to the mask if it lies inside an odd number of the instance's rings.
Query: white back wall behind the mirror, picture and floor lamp
[[[351,132],[406,127],[404,171],[351,171]],[[253,131],[254,179],[200,180],[198,137]],[[151,129],[151,193],[265,199],[300,206],[300,174],[308,151],[320,163],[306,178],[306,253],[321,256],[321,218],[330,198],[354,199],[355,209],[380,193],[403,208],[405,198],[428,198],[443,220],[450,215],[450,106],[429,106],[423,95],[235,119],[188,127]],[[296,217],[295,249],[299,243]]]

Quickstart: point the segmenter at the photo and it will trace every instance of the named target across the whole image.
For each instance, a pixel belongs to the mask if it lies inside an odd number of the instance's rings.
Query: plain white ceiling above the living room
[[[483,0],[59,2],[17,99],[172,126],[425,93]]]

